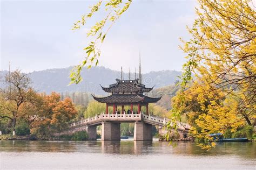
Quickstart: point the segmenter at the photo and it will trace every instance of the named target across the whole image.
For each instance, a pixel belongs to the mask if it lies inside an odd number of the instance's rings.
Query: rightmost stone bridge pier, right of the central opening
[[[152,125],[138,121],[135,122],[134,140],[153,140]]]

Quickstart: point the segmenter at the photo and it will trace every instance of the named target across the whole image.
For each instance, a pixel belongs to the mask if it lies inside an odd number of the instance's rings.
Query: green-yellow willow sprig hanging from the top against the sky
[[[100,8],[104,8],[106,11],[106,16],[95,25],[91,27],[91,30],[87,32],[87,37],[93,37],[94,40],[90,41],[89,44],[84,48],[85,58],[84,60],[71,70],[70,74],[70,84],[78,84],[82,81],[81,72],[83,67],[90,69],[92,66],[97,66],[99,63],[100,47],[102,46],[107,33],[110,31],[114,23],[122,16],[122,14],[129,8],[132,0],[123,2],[122,0],[109,0],[105,5],[103,1],[100,0],[96,5],[91,7],[91,11],[87,15],[83,15],[80,20],[78,20],[72,30],[78,30],[80,27],[86,24],[86,21],[91,18]]]

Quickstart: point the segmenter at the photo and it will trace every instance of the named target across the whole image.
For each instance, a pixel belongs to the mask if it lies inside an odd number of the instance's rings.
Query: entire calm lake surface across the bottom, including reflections
[[[256,169],[256,143],[0,141],[0,169]]]

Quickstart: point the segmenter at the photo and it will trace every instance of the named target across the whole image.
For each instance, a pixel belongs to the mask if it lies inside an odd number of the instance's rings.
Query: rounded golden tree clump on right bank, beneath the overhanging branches
[[[239,96],[226,96],[222,90],[211,90],[209,84],[201,81],[172,98],[173,108],[178,108],[180,115],[187,115],[192,125],[190,132],[200,141],[213,140],[209,134],[225,133],[227,129],[234,132],[245,124],[243,115],[237,112],[239,101]],[[215,143],[199,143],[199,146],[209,149]]]

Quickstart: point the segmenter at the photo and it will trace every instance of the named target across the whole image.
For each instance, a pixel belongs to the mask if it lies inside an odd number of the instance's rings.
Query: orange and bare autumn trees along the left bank
[[[21,70],[4,77],[0,89],[0,130],[12,135],[50,136],[68,127],[77,110],[70,98],[58,93],[37,93],[31,79]]]

